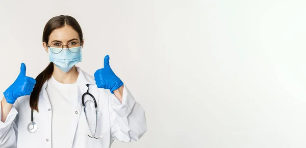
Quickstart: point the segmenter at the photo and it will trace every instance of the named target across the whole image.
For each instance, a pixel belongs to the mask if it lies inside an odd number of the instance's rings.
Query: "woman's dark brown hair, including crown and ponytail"
[[[48,44],[50,34],[55,30],[64,26],[72,27],[78,32],[80,41],[83,41],[83,33],[80,24],[73,17],[68,15],[60,15],[51,18],[45,25],[42,41]],[[30,96],[30,107],[38,112],[38,98],[43,84],[52,77],[54,65],[52,62],[36,77],[36,84]]]

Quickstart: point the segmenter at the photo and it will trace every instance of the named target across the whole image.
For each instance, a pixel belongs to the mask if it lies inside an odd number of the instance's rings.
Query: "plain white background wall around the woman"
[[[48,64],[45,23],[76,18],[91,75],[110,65],[147,132],[112,147],[305,147],[306,2],[0,1],[0,90]],[[30,119],[29,119],[30,120]],[[35,139],[34,139],[35,140]]]

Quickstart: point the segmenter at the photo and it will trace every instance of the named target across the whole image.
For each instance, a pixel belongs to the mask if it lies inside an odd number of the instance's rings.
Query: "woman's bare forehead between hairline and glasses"
[[[67,42],[68,40],[71,40],[73,38],[76,38],[79,40],[78,32],[76,32],[70,26],[64,26],[62,28],[53,30],[53,32],[49,36],[49,42],[52,42],[53,40]]]

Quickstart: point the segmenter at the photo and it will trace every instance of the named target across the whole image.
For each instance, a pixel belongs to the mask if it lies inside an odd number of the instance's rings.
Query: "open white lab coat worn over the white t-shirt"
[[[138,140],[146,132],[146,119],[143,108],[134,100],[131,92],[124,85],[122,104],[118,98],[107,89],[97,88],[94,78],[77,67],[79,77],[78,106],[71,112],[71,147],[110,147],[115,139],[122,142]],[[98,124],[96,136],[100,139],[90,138],[90,131],[86,122],[82,106],[82,94],[88,89],[95,97],[98,106]],[[29,147],[29,148],[51,148],[52,147],[52,108],[45,90],[47,83],[44,83],[38,101],[38,110],[34,111],[33,121],[36,122],[38,130],[36,133],[28,132],[28,124],[31,119],[31,108],[29,105],[30,96],[17,98],[13,108],[5,122],[0,121],[0,147]],[[73,93],[73,92],[72,92]],[[92,100],[86,95],[85,101]],[[94,106],[86,107],[86,112],[94,111]],[[0,105],[0,117],[1,113]],[[88,115],[88,114],[87,114]],[[92,114],[91,114],[92,115]],[[93,114],[94,115],[94,114]],[[90,115],[89,115],[90,116]],[[89,120],[95,124],[95,116]],[[92,128],[94,130],[94,127]]]

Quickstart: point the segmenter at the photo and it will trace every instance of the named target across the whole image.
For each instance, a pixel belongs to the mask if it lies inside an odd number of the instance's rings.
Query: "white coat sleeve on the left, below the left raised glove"
[[[2,122],[0,120],[0,147],[17,147],[17,127],[18,125],[18,100],[13,104],[11,111],[9,112],[6,120]],[[2,117],[2,107],[0,105],[0,119]]]

